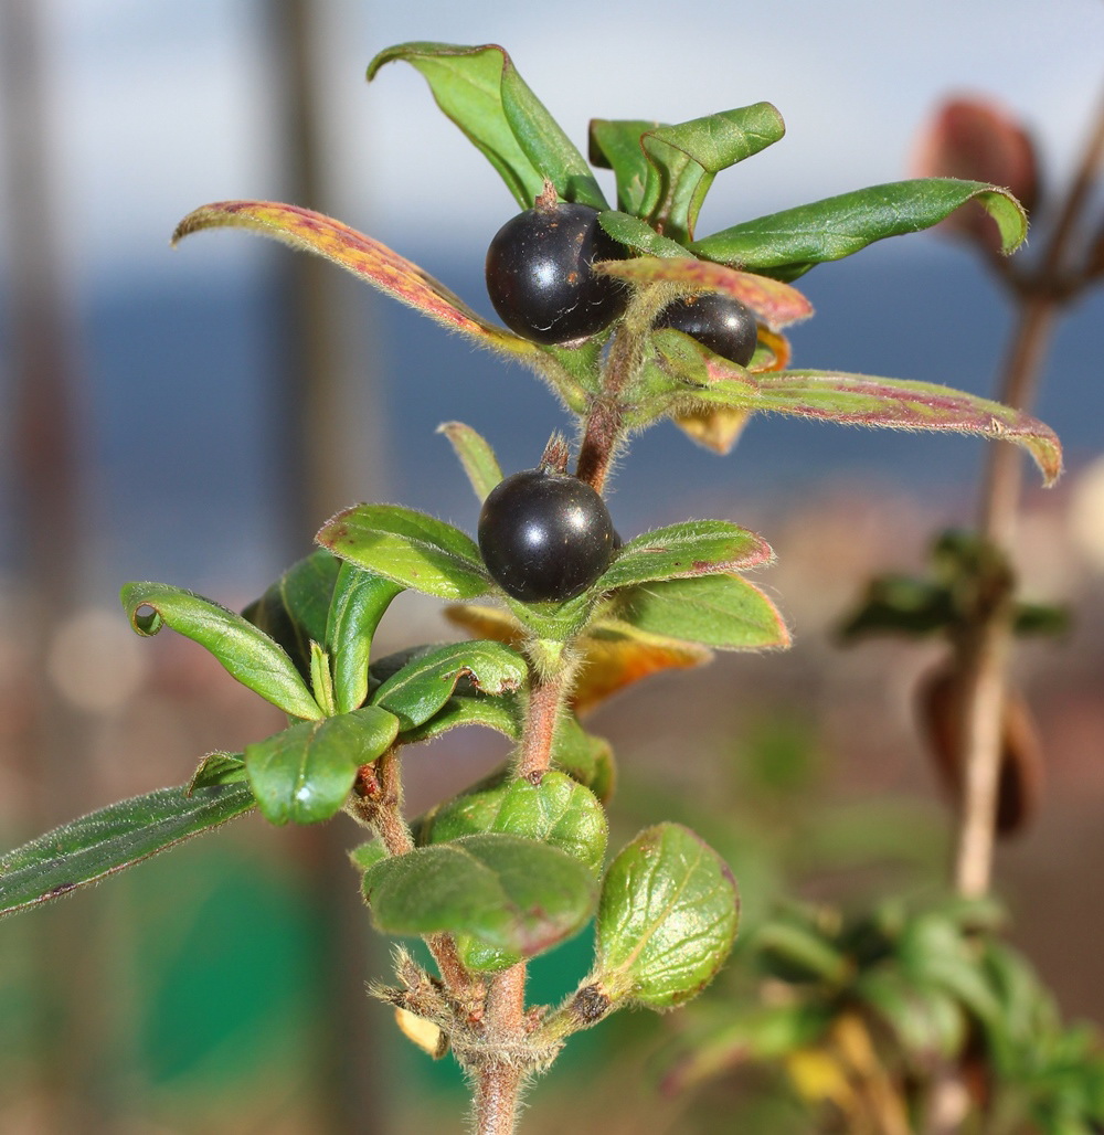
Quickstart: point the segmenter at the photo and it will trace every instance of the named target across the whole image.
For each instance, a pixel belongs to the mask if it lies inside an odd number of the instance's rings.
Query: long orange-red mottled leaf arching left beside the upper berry
[[[488,323],[444,284],[387,245],[310,209],[273,201],[217,201],[188,213],[172,234],[172,243],[205,228],[245,228],[313,252],[445,327],[504,354],[531,359],[539,351],[528,339]]]

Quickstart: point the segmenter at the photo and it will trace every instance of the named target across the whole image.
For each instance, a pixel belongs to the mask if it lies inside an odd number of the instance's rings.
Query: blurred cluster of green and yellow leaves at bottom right
[[[701,1022],[669,1053],[665,1086],[686,1091],[739,1065],[769,1065],[807,1107],[842,1112],[849,1129],[870,1124],[878,1092],[918,1129],[950,1067],[986,1130],[1029,1124],[1088,1135],[1104,1119],[1104,1046],[1092,1029],[1063,1025],[1001,939],[1002,922],[992,901],[959,898],[892,900],[852,917],[783,909],[742,947],[758,999]]]

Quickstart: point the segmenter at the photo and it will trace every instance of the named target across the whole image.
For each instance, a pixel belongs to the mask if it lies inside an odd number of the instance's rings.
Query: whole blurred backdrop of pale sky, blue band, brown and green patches
[[[197,647],[136,639],[121,582],[239,608],[361,499],[471,531],[477,502],[437,424],[466,421],[507,471],[536,464],[563,426],[525,372],[335,268],[233,233],[168,247],[200,204],[293,201],[489,314],[483,252],[515,207],[413,69],[365,86],[369,59],[406,40],[502,43],[580,145],[590,117],[680,121],[773,101],[787,137],[718,178],[701,233],[908,176],[950,94],[992,96],[1026,121],[1056,192],[1104,82],[1097,0],[930,0],[915,20],[873,0],[641,0],[631,16],[580,0],[6,0],[0,847],[183,783],[202,754],[279,728]],[[793,333],[797,365],[993,389],[1011,316],[959,245],[888,242],[800,286],[817,318]],[[1067,1012],[1098,1022],[1102,327],[1097,292],[1063,321],[1038,403],[1068,473],[1029,490],[1018,566],[1028,597],[1069,602],[1077,620],[1020,651],[1048,785],[997,864],[1013,938]],[[621,758],[616,834],[692,817],[733,864],[750,919],[784,888],[845,901],[943,878],[949,813],[910,707],[935,651],[842,650],[832,632],[870,574],[918,568],[933,533],[971,521],[981,455],[963,438],[781,419],[756,420],[723,459],[668,426],[639,439],[610,498],[622,536],[689,515],[760,531],[778,554],[760,579],[795,646],[656,679],[600,712],[592,725]],[[395,648],[449,633],[410,596],[381,629]],[[412,809],[503,755],[479,732],[412,755]],[[275,832],[250,817],[0,925],[0,1130],[410,1132],[437,1116],[453,1129],[458,1076],[363,997],[386,950],[362,934],[340,863],[356,835],[339,826]],[[573,987],[587,950],[547,959],[534,995]],[[580,1037],[534,1095],[532,1129],[570,1092],[608,1135],[602,1076],[638,1082],[677,1027],[631,1015]],[[626,1130],[724,1129],[681,1103],[668,1116],[649,1092]]]

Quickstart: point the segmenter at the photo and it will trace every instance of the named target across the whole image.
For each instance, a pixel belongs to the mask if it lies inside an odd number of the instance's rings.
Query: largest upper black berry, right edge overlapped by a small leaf
[[[503,322],[533,343],[570,343],[608,327],[625,308],[621,280],[591,270],[624,249],[589,205],[538,204],[506,221],[487,250],[487,291]]]

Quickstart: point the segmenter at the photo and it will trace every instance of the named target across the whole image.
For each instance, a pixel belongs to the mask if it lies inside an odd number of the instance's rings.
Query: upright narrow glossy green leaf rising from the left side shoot
[[[326,649],[332,658],[338,713],[348,713],[364,704],[372,636],[402,590],[401,585],[343,561],[334,585],[325,638]]]

